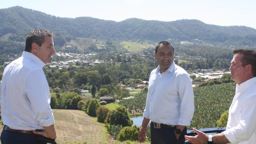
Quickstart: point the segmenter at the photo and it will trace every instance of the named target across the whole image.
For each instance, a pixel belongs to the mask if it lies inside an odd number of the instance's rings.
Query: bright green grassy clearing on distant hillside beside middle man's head
[[[140,44],[136,42],[121,42],[120,45],[128,50],[129,52],[138,52],[143,49],[149,48],[149,47],[154,47],[153,45],[150,44]]]

